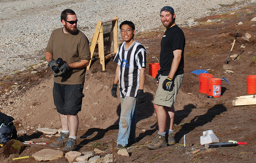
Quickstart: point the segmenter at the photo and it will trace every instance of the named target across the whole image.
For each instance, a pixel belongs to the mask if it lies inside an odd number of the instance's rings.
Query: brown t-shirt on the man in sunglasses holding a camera
[[[63,27],[52,32],[46,51],[53,55],[54,60],[62,58],[68,64],[91,59],[89,41],[84,33],[77,30],[76,34],[66,34]],[[86,67],[70,69],[63,77],[56,77],[53,81],[59,84],[83,84],[85,71]]]

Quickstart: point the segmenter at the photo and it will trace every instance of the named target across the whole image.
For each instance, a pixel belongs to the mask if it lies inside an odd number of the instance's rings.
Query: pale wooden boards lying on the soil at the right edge
[[[248,95],[248,96],[236,97],[236,100],[232,101],[232,105],[233,106],[256,105],[256,96]]]

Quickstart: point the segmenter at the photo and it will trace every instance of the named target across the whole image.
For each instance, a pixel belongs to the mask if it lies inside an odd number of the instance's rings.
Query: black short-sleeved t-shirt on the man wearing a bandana
[[[174,58],[173,51],[180,49],[182,55],[180,64],[175,75],[184,73],[184,47],[185,47],[185,36],[183,31],[177,25],[166,29],[164,36],[161,41],[161,52],[160,52],[160,70],[159,73],[163,76],[168,76],[172,67],[172,61]]]

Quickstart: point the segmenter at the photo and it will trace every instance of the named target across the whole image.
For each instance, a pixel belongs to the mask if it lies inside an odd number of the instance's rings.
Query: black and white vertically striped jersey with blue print
[[[118,47],[114,62],[120,65],[120,97],[136,97],[139,89],[140,69],[146,68],[146,50],[136,40],[125,50],[125,42]]]

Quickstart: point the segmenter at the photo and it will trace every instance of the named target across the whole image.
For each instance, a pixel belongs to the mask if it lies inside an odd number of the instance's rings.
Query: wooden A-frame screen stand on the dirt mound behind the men
[[[103,34],[103,24],[107,22],[112,22],[112,28],[109,33]],[[103,21],[98,21],[95,33],[92,38],[92,44],[90,47],[91,51],[91,60],[89,65],[87,66],[87,70],[90,69],[91,63],[92,63],[92,56],[94,53],[94,50],[96,48],[96,45],[98,45],[99,49],[99,58],[100,58],[100,64],[102,64],[102,71],[105,71],[105,60],[110,59],[113,56],[116,55],[117,49],[118,49],[118,36],[117,36],[117,22],[118,18],[115,17],[114,19],[108,19],[108,20],[103,20]],[[108,39],[108,44],[106,50],[104,50],[104,38],[109,37]],[[98,44],[97,44],[98,41]],[[113,43],[113,50],[114,52],[109,52],[111,45]]]

